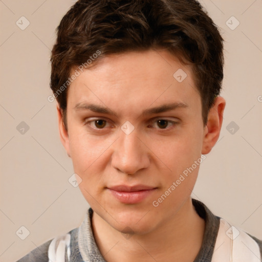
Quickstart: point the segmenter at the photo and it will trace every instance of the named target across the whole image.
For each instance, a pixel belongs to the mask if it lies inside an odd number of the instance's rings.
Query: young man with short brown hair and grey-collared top
[[[220,135],[223,39],[197,1],[78,1],[52,50],[61,142],[91,208],[23,261],[259,261],[190,195]]]

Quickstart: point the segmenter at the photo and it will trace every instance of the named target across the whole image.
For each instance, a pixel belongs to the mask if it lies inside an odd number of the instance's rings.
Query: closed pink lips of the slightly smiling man
[[[107,187],[107,189],[121,203],[136,204],[145,200],[157,188],[146,186],[146,185],[136,185],[136,186],[118,185],[118,186]]]

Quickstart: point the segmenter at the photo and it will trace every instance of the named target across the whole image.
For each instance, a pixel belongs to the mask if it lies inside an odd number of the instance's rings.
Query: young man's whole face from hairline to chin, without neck
[[[190,197],[206,128],[191,68],[168,52],[111,55],[85,70],[68,90],[67,124],[79,188],[118,231],[154,230]]]

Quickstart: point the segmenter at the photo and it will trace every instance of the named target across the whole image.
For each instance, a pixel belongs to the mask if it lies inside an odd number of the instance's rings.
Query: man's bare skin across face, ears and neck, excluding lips
[[[181,83],[173,77],[178,69],[187,74]],[[142,114],[176,102],[187,107]],[[80,108],[83,103],[114,114]],[[165,50],[106,56],[74,80],[68,90],[68,131],[57,106],[60,139],[94,210],[93,232],[106,261],[194,260],[205,228],[190,197],[199,165],[158,207],[152,202],[201,154],[210,152],[220,135],[224,108],[224,98],[217,97],[204,126],[190,66]],[[97,128],[94,120],[99,119],[106,121],[105,127]],[[161,128],[161,119],[176,124],[165,122]],[[121,130],[126,121],[134,126],[129,135]],[[107,188],[121,184],[156,189],[140,203],[123,204]]]

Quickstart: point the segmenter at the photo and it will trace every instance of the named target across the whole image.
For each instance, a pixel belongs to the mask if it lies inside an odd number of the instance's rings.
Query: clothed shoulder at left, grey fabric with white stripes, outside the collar
[[[75,228],[68,233],[57,236],[41,246],[35,248],[30,253],[20,258],[16,262],[49,262],[57,260],[57,253],[70,257],[71,234],[78,230]],[[64,257],[63,257],[64,259]]]

